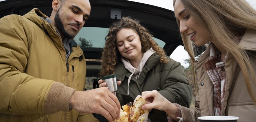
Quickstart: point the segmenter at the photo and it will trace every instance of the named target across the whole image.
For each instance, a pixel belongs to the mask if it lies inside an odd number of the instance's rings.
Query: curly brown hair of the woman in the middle
[[[107,36],[105,37],[105,46],[101,57],[100,77],[108,76],[115,73],[115,66],[121,61],[121,54],[116,47],[116,33],[123,28],[131,28],[136,31],[141,41],[141,52],[145,53],[152,47],[156,54],[160,57],[161,63],[167,63],[168,59],[165,56],[164,50],[152,39],[152,34],[143,27],[138,20],[131,17],[122,17],[120,21],[113,23]]]

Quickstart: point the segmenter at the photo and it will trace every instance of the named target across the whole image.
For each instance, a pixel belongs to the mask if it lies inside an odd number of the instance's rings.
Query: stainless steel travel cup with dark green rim
[[[116,74],[110,75],[110,76],[104,76],[101,77],[101,79],[103,80],[103,82],[105,82],[107,85],[106,87],[108,87],[108,89],[111,92],[115,92],[117,91],[117,80],[116,80]]]

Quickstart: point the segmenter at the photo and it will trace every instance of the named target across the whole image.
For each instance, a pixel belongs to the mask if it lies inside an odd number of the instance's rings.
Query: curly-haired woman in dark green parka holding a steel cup
[[[168,101],[189,107],[192,91],[181,64],[165,55],[139,21],[121,18],[110,26],[105,40],[100,76],[117,75],[121,105],[133,102],[142,91],[158,90]],[[106,86],[102,80],[98,83]],[[166,113],[156,109],[149,118],[167,121]]]

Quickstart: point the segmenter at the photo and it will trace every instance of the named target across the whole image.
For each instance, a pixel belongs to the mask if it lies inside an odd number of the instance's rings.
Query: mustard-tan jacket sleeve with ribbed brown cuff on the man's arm
[[[0,28],[0,113],[31,115],[69,111],[69,97],[74,89],[24,73],[32,43],[28,20],[18,15],[5,16],[0,19]]]

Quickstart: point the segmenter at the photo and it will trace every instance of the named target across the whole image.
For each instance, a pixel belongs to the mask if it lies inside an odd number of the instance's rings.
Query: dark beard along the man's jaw
[[[67,33],[64,29],[63,23],[61,21],[61,18],[59,17],[59,9],[56,12],[56,15],[54,17],[54,21],[55,21],[55,26],[56,28],[67,38],[74,38],[75,36],[71,36],[69,33]]]

